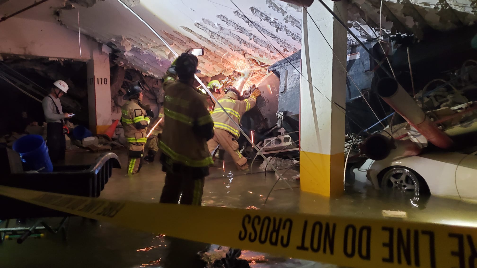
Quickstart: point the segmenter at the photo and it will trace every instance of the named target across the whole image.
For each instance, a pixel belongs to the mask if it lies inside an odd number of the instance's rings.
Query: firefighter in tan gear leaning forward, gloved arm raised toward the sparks
[[[218,103],[222,104],[235,123],[240,124],[242,115],[255,106],[257,97],[260,95],[260,91],[256,89],[250,95],[250,98],[244,100],[239,91],[235,87],[230,86],[227,88],[225,97],[218,100]],[[239,139],[240,132],[237,125],[228,118],[227,113],[224,113],[220,106],[215,106],[214,112],[212,112],[215,134],[207,142],[208,150],[212,154],[218,145],[221,145],[232,156],[237,168],[245,170],[249,168],[249,165],[247,164],[247,158],[243,157],[239,152],[237,140]]]

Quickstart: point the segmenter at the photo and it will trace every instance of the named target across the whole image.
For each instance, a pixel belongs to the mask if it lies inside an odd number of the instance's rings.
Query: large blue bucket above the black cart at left
[[[27,170],[53,171],[52,160],[42,136],[34,134],[23,136],[15,141],[13,150],[20,154]]]

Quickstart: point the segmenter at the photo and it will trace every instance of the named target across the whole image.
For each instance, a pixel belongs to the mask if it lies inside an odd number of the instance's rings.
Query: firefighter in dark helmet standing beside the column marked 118
[[[146,127],[150,122],[150,117],[141,107],[143,93],[139,85],[133,84],[123,96],[123,100],[128,100],[121,107],[121,124],[128,142],[127,173],[134,175],[142,166],[144,145],[147,141]]]

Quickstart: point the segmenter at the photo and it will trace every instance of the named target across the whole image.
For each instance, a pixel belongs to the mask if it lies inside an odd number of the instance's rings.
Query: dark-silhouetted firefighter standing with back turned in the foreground
[[[197,205],[202,203],[205,176],[213,164],[207,140],[214,136],[214,123],[206,108],[206,96],[193,86],[197,57],[182,53],[176,60],[175,81],[166,73],[163,88],[164,129],[159,148],[166,172],[161,203]]]

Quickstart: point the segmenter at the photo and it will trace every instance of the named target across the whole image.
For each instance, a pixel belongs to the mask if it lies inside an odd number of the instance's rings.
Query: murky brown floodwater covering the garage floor
[[[124,166],[125,153],[117,152],[117,154]],[[94,156],[91,153],[68,154],[67,163],[89,163]],[[256,170],[256,167],[253,169]],[[383,218],[382,210],[400,210],[406,212],[407,217],[402,219],[404,221],[477,226],[477,206],[458,200],[430,196],[411,202],[406,196],[384,197],[370,185],[359,182],[356,182],[349,191],[351,193],[328,200],[300,192],[299,182],[288,179],[292,190],[284,182],[279,181],[271,191],[267,204],[264,205],[266,196],[277,180],[272,172],[244,174],[237,172],[234,165],[228,163],[225,163],[225,166],[218,163],[217,167],[210,169],[210,172],[211,175],[206,178],[202,198],[202,204],[205,206],[299,211],[365,218]],[[158,202],[165,177],[158,161],[145,163],[138,175],[128,176],[125,173],[124,168],[114,169],[113,176],[101,192],[102,198]],[[291,178],[296,174],[296,171],[289,170],[285,177]],[[168,220],[169,217],[164,215],[164,220]],[[60,220],[60,218],[51,219],[49,222],[55,223]],[[143,219],[136,220],[141,222]],[[1,227],[4,227],[4,224]],[[138,232],[104,222],[72,217],[67,242],[63,242],[61,236],[49,233],[40,239],[29,238],[21,245],[15,240],[5,241],[0,246],[0,267],[160,267],[161,258],[167,258],[166,246],[166,239],[159,234]],[[225,247],[216,249],[215,252],[225,254],[226,249]],[[252,262],[251,267],[255,268],[334,267],[249,251],[243,252],[243,258],[253,259],[255,263]]]

